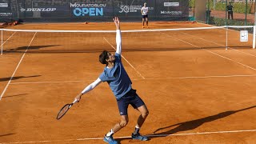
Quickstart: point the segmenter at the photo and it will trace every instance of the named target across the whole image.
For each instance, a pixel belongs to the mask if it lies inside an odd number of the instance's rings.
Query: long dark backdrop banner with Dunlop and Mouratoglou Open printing
[[[0,21],[106,22],[142,21],[146,2],[150,21],[187,21],[189,0],[0,0]]]

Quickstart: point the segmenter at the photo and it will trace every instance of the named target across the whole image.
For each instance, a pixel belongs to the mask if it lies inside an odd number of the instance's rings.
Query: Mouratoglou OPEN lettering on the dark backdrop
[[[103,16],[104,7],[106,7],[106,4],[70,3],[70,8],[75,17]]]

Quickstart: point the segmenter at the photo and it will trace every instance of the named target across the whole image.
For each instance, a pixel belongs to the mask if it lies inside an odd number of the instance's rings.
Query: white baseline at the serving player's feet
[[[183,134],[150,134],[147,137],[170,137],[170,136],[184,136],[184,135],[197,135],[197,134],[229,134],[229,133],[243,133],[243,132],[256,132],[256,130],[230,130],[230,131],[210,131],[210,132],[197,132],[197,133],[183,133]],[[125,137],[114,137],[118,138],[130,138]],[[53,141],[30,141],[30,142],[2,142],[0,144],[22,144],[22,143],[42,143],[42,142],[66,142],[66,141],[86,141],[86,140],[102,140],[103,138],[78,138],[78,139],[62,139]]]

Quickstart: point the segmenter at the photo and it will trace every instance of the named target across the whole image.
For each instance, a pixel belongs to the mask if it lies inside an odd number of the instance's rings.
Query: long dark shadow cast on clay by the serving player
[[[241,109],[241,110],[225,111],[225,112],[222,112],[219,114],[211,115],[206,118],[200,118],[200,119],[195,119],[195,120],[188,121],[188,122],[177,123],[177,124],[174,124],[171,126],[159,128],[157,130],[154,130],[153,134],[151,133],[151,134],[147,134],[147,135],[149,135],[150,138],[158,138],[158,137],[166,137],[170,134],[175,134],[180,131],[194,130],[195,128],[197,128],[198,126],[202,126],[202,124],[204,124],[206,122],[212,122],[212,121],[215,121],[220,118],[225,118],[225,117],[230,116],[231,114],[235,114],[235,113],[238,113],[243,110],[249,110],[254,107],[256,107],[256,106],[250,106],[250,107],[247,107],[247,108]],[[176,127],[174,127],[174,126],[176,126]],[[170,130],[171,127],[174,127],[174,128]],[[159,132],[160,130],[163,132]]]

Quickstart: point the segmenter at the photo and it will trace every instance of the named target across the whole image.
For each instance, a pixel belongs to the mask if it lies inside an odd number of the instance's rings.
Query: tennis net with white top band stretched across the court
[[[1,54],[25,51],[27,53],[94,53],[115,49],[115,30],[0,30]],[[254,48],[254,46],[254,26],[122,30],[123,51]]]

